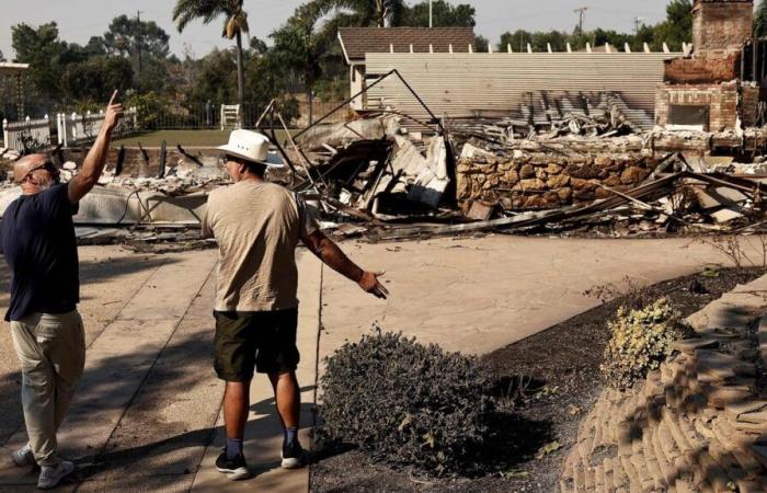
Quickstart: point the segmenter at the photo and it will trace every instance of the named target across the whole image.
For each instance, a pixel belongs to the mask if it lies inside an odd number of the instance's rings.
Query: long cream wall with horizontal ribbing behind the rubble
[[[368,83],[397,69],[433,113],[448,118],[477,115],[511,116],[526,104],[525,94],[538,91],[619,93],[632,110],[649,114],[652,127],[655,87],[663,81],[664,60],[680,54],[663,53],[474,53],[368,54]],[[428,119],[397,77],[367,93],[366,110],[392,107]]]

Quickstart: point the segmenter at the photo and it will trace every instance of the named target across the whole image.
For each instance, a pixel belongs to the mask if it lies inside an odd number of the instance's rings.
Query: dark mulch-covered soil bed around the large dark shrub
[[[646,296],[666,297],[691,314],[758,270],[719,271],[656,284]],[[577,425],[600,389],[599,364],[608,341],[606,321],[626,301],[619,297],[543,332],[483,356],[499,381],[499,397],[513,412],[499,423],[494,447],[499,472],[481,478],[430,478],[415,470],[374,463],[354,449],[327,450],[313,465],[312,492],[553,492],[560,465]],[[542,448],[550,448],[540,455]],[[492,455],[492,454],[491,454]],[[536,458],[538,456],[539,458]]]

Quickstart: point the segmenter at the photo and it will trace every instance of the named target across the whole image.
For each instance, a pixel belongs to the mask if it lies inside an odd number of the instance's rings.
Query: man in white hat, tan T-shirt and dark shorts
[[[216,239],[220,254],[214,366],[226,381],[227,443],[216,467],[231,480],[250,475],[242,440],[254,368],[268,375],[274,389],[283,424],[283,468],[300,468],[307,461],[298,442],[298,241],[365,291],[378,298],[388,295],[378,280],[382,272],[355,265],[322,234],[312,209],[297,194],[264,180],[267,168],[282,167],[270,162],[268,145],[254,131],[231,133],[229,144],[219,149],[234,184],[210,194],[203,220],[203,236]]]

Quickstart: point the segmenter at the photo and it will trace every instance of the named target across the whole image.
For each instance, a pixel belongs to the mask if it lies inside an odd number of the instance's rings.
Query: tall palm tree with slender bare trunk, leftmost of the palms
[[[173,21],[181,33],[195,19],[207,24],[225,15],[222,36],[237,39],[237,94],[240,103],[240,126],[244,124],[245,77],[242,64],[242,33],[248,33],[248,13],[242,10],[244,0],[176,0]]]

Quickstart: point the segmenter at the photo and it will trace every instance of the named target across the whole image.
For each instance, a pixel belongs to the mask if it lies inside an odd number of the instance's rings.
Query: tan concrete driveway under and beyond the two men
[[[299,259],[304,444],[317,363],[378,322],[450,351],[485,353],[598,303],[595,284],[625,276],[644,284],[699,271],[723,259],[688,240],[553,240],[486,237],[342,246],[367,268],[387,270],[392,297],[378,300],[306,250]],[[80,249],[89,344],[85,377],[60,432],[78,460],[61,491],[305,492],[308,470],[283,471],[282,432],[271,386],[251,390],[245,455],[255,477],[231,482],[213,462],[222,445],[222,383],[211,368],[215,251],[147,256],[116,246]],[[8,272],[0,270],[0,293]],[[0,295],[0,308],[8,297]],[[12,467],[25,440],[20,375],[10,331],[0,331],[0,491],[36,491],[36,474]]]

